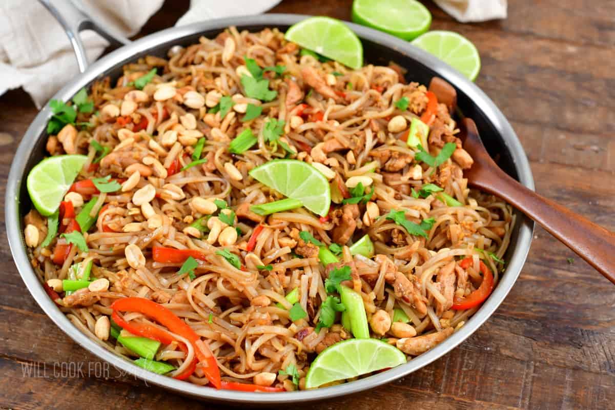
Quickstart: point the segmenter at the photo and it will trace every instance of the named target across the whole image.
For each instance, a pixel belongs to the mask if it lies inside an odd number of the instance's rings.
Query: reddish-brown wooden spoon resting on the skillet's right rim
[[[534,219],[615,284],[615,234],[510,178],[487,153],[473,120],[463,119],[460,129],[463,148],[474,159],[464,173],[468,184],[497,195]]]

